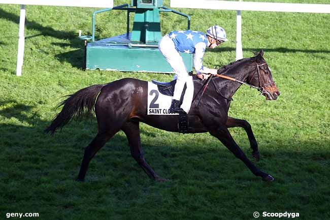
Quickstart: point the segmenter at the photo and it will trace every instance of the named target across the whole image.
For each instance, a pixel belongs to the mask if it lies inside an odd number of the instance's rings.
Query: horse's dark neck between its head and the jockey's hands
[[[229,76],[242,82],[246,82],[248,75],[252,72],[252,68],[248,68],[249,70],[247,70],[247,68],[244,68],[244,66],[251,65],[251,62],[248,59],[241,62],[241,64],[233,64],[232,67],[227,67],[227,70],[220,71],[220,73],[222,72],[221,74],[224,76]],[[241,85],[241,83],[232,80],[217,80],[219,92],[223,97],[229,100],[232,99],[235,92],[240,88]]]

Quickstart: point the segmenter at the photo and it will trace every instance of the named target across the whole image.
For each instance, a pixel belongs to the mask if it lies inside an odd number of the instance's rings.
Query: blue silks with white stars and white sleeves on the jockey
[[[194,53],[194,68],[198,73],[209,73],[210,69],[203,67],[203,56],[207,46],[206,35],[196,30],[176,30],[169,34],[175,49],[182,53]]]

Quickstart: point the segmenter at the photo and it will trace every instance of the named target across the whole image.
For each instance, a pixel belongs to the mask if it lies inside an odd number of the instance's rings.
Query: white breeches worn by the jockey
[[[186,83],[187,77],[189,76],[182,56],[175,49],[174,42],[169,37],[169,35],[165,35],[159,41],[158,48],[168,63],[171,65],[175,73],[173,79],[176,79],[177,83],[175,84],[173,99],[180,100],[184,84]]]

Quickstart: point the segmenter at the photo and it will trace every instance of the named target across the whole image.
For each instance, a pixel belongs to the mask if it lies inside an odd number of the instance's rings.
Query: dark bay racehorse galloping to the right
[[[218,74],[258,87],[267,100],[276,100],[280,95],[271,71],[263,59],[262,50],[254,57],[224,66],[218,70]],[[228,128],[233,127],[244,128],[250,141],[252,155],[257,161],[259,160],[258,146],[251,125],[246,120],[228,117],[230,101],[241,83],[218,77],[212,78],[198,105],[197,100],[202,95],[201,90],[206,85],[206,81],[194,77],[193,83],[195,99],[188,114],[188,133],[209,132],[243,161],[254,175],[260,176],[265,181],[273,181],[271,175],[260,171],[251,163],[228,131]],[[125,78],[104,85],[83,88],[59,104],[63,108],[46,132],[53,134],[74,116],[79,118],[85,113],[95,113],[97,118],[98,133],[85,148],[78,181],[84,181],[88,164],[93,156],[120,130],[127,136],[131,155],[148,176],[156,181],[166,180],[160,178],[144,159],[139,123],[141,121],[158,129],[178,132],[178,115],[147,115],[147,86],[146,81]]]

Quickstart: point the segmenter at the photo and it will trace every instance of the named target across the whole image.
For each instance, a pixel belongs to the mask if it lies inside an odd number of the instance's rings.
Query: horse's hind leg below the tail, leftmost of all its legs
[[[88,169],[89,162],[92,160],[98,150],[100,150],[106,142],[112,138],[119,130],[110,132],[99,132],[96,137],[85,148],[84,157],[81,163],[77,181],[84,181]]]

